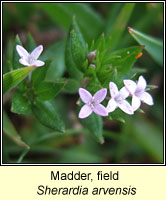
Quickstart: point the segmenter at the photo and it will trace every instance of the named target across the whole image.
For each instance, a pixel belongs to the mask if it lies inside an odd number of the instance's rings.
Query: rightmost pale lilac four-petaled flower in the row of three
[[[145,90],[147,83],[143,76],[139,77],[137,83],[132,80],[124,80],[123,82],[129,95],[132,96],[131,105],[134,111],[140,107],[141,101],[148,105],[153,105],[152,96]]]

